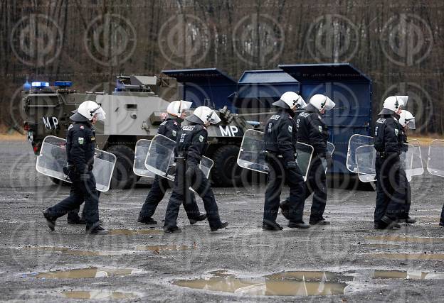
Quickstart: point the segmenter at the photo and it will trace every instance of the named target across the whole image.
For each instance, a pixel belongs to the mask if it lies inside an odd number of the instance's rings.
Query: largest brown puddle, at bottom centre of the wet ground
[[[255,278],[211,277],[196,280],[175,280],[174,285],[215,292],[257,296],[322,296],[344,294],[351,280],[334,272],[280,272]]]

